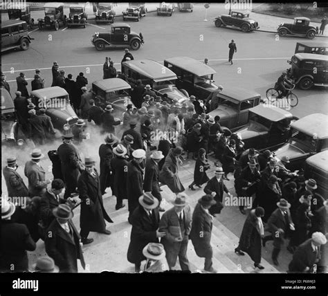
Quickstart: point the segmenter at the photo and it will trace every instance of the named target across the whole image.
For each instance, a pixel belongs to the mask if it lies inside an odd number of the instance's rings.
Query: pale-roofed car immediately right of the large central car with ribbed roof
[[[171,57],[164,60],[164,66],[176,74],[176,87],[185,89],[189,95],[199,100],[205,100],[218,87],[214,83],[213,75],[217,73],[213,68],[191,57]]]

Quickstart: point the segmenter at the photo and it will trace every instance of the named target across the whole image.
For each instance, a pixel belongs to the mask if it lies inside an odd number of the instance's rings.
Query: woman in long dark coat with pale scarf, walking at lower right
[[[263,269],[261,266],[262,237],[264,236],[264,227],[261,217],[264,216],[263,207],[257,207],[248,214],[244,223],[242,234],[240,235],[239,245],[235,252],[239,255],[245,255],[246,252],[250,259],[254,261],[254,266]],[[244,252],[243,252],[244,251]]]

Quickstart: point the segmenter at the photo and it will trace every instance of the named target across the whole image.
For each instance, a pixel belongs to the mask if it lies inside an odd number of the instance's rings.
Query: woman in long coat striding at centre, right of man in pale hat
[[[178,176],[178,162],[181,154],[181,147],[170,149],[169,154],[167,154],[165,158],[165,163],[161,172],[159,173],[159,181],[167,185],[173,193],[185,191],[185,187],[183,187]]]

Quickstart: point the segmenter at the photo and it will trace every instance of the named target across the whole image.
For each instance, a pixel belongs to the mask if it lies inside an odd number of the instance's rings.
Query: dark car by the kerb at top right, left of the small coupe
[[[215,26],[234,26],[241,28],[243,32],[251,32],[259,28],[259,24],[254,19],[249,18],[248,13],[232,11],[230,15],[221,15],[215,20]]]

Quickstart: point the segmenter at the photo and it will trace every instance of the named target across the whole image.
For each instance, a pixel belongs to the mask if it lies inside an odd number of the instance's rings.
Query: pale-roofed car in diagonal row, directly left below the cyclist
[[[248,122],[249,110],[257,106],[261,100],[261,95],[255,91],[239,87],[224,89],[218,96],[219,107],[208,114],[213,118],[219,115],[221,126],[233,131]]]

